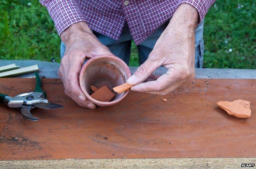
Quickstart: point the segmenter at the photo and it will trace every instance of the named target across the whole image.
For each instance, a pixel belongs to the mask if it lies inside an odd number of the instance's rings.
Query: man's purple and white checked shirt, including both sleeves
[[[200,21],[215,0],[40,0],[60,35],[73,23],[87,22],[96,32],[119,39],[125,22],[136,45],[174,14],[182,3],[195,7]]]

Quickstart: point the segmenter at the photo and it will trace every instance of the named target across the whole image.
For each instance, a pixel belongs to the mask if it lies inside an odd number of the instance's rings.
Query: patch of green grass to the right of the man
[[[255,1],[217,1],[206,16],[204,40],[206,68],[255,69]]]

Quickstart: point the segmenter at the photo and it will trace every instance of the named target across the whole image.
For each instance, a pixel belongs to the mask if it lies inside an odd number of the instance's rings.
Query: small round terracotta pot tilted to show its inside
[[[117,56],[100,55],[94,56],[83,65],[79,80],[87,99],[98,106],[111,106],[121,101],[129,92],[128,90],[118,94],[112,88],[125,83],[130,76],[128,65]],[[116,96],[112,101],[98,101],[90,96],[92,94],[91,85],[97,88],[107,86]]]

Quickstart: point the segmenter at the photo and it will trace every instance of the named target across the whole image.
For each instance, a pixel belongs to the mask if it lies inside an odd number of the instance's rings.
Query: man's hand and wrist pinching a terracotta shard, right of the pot
[[[178,7],[169,25],[162,33],[149,58],[139,66],[128,83],[131,90],[166,95],[182,83],[194,79],[194,32],[197,10],[188,4]],[[155,81],[142,83],[161,65],[168,69]]]

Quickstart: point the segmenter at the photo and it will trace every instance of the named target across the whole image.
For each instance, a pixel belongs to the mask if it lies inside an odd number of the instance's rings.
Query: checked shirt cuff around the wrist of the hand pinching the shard
[[[201,22],[214,2],[215,0],[179,0],[177,7],[183,3],[192,5],[197,9]]]

